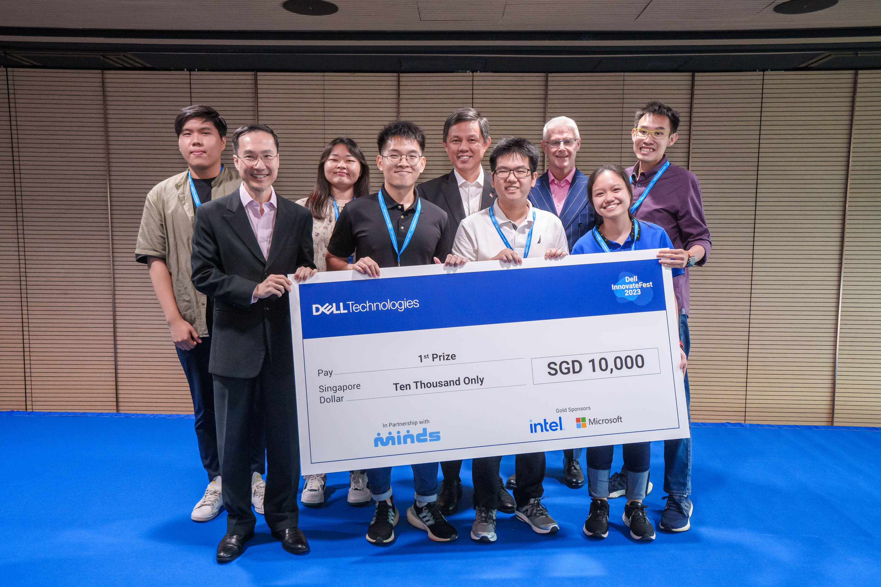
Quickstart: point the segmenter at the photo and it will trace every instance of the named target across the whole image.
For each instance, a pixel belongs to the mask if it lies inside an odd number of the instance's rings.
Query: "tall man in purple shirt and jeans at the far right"
[[[690,349],[688,334],[689,268],[707,262],[710,231],[700,198],[700,182],[694,173],[670,163],[664,154],[678,138],[679,113],[653,100],[636,111],[633,124],[633,152],[636,165],[627,169],[633,185],[631,212],[639,220],[658,224],[667,231],[673,249],[662,249],[670,260],[677,260],[685,270],[673,278],[673,291],[679,308],[679,340],[685,355]],[[691,402],[688,373],[685,373],[685,400]],[[612,475],[613,497],[624,495],[626,474]],[[613,487],[614,486],[614,487]],[[667,506],[661,517],[662,530],[685,532],[691,527],[692,440],[664,441],[664,491]]]

